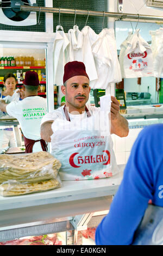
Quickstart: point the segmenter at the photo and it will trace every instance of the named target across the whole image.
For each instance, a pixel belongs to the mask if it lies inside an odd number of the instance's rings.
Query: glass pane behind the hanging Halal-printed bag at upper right
[[[135,32],[140,29],[139,33],[149,45],[151,45],[151,35],[149,31],[156,31],[160,25],[154,22],[130,22],[115,21],[115,37],[118,55],[120,54],[121,44],[126,40],[129,32]],[[160,89],[158,90],[158,86]],[[163,79],[156,77],[141,78],[124,78],[121,84],[124,92],[126,92],[127,106],[145,106],[163,104]]]

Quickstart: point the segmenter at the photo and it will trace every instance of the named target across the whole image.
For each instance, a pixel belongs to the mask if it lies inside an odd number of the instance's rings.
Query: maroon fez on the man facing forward
[[[68,62],[65,65],[64,69],[64,83],[73,76],[86,76],[89,78],[89,76],[86,74],[85,65],[83,62]]]

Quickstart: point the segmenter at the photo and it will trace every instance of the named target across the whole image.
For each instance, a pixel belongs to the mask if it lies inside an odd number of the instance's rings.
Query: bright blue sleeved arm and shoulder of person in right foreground
[[[149,200],[163,207],[163,124],[136,138],[108,215],[96,229],[96,245],[131,245]]]

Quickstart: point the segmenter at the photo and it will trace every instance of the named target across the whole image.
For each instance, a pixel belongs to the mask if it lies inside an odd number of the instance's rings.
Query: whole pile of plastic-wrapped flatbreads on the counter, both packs
[[[0,155],[0,194],[17,196],[61,186],[59,160],[45,151],[27,155]]]

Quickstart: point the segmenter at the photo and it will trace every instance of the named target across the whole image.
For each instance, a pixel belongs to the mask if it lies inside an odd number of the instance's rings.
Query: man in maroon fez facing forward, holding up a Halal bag
[[[62,93],[65,95],[66,107],[60,107],[53,112],[47,113],[41,120],[41,138],[47,142],[51,142],[52,123],[60,117],[66,119],[65,111],[71,119],[77,118],[77,115],[98,111],[96,107],[86,105],[90,93],[90,80],[86,73],[85,65],[82,62],[68,62],[64,69],[64,86],[61,87]],[[126,137],[128,135],[128,121],[119,113],[120,105],[114,96],[111,96],[111,133],[117,136]],[[64,111],[65,109],[65,111]],[[66,111],[66,112],[67,112]]]

